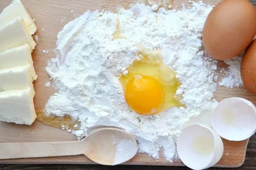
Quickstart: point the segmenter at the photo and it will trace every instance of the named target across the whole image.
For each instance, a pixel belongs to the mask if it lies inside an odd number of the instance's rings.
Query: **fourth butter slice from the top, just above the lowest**
[[[24,90],[30,87],[34,97],[31,70],[29,64],[0,70],[0,91]]]

